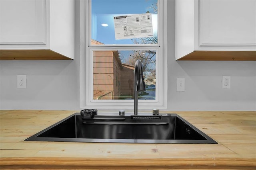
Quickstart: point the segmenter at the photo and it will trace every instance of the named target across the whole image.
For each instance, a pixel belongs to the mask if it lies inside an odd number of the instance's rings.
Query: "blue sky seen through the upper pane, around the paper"
[[[130,39],[115,40],[113,16],[154,13],[157,0],[92,0],[92,39],[104,44],[133,44]],[[101,26],[107,23],[108,27]]]

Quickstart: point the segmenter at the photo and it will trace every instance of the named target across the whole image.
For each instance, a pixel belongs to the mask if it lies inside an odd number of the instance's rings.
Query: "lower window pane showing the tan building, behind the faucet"
[[[93,51],[94,100],[132,100],[134,64],[141,60],[146,91],[140,100],[156,99],[156,50]]]

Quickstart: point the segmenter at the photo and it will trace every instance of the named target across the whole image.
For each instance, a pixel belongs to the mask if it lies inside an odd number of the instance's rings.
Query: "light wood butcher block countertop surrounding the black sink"
[[[177,113],[218,144],[24,141],[76,112],[0,111],[0,169],[256,169],[256,111],[160,112]]]

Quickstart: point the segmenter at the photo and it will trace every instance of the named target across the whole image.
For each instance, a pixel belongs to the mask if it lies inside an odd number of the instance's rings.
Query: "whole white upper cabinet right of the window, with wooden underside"
[[[256,60],[256,0],[176,0],[176,60]]]

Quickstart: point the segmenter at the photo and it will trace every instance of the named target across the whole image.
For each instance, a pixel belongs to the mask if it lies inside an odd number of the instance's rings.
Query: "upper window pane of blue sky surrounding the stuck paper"
[[[101,44],[156,44],[157,0],[92,0],[91,36]],[[152,14],[153,36],[150,38],[115,38],[114,16]],[[124,26],[125,27],[125,26]],[[124,28],[126,29],[126,27]],[[128,28],[127,28],[128,29]],[[94,45],[97,45],[96,43]]]

